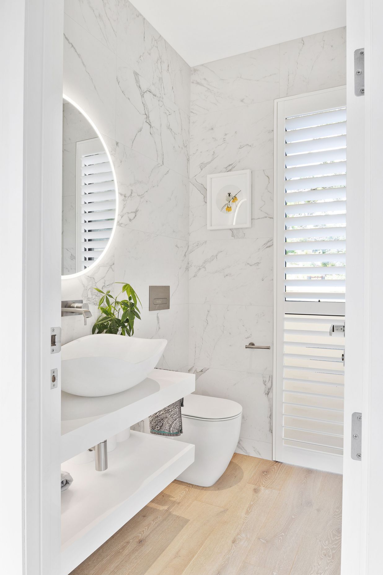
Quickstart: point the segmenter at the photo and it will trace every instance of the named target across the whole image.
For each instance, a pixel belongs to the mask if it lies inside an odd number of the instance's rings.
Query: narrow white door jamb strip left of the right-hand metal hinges
[[[344,440],[343,440],[343,510],[342,575],[361,575],[361,470],[364,465],[351,459],[351,414],[362,411],[365,389],[363,354],[366,333],[363,326],[365,283],[365,99],[354,95],[354,51],[363,48],[365,31],[364,4],[347,2],[347,277],[346,333],[344,345]],[[364,422],[363,422],[364,425]],[[363,433],[362,433],[363,435]],[[376,573],[379,573],[378,569]],[[373,572],[371,572],[372,575]]]

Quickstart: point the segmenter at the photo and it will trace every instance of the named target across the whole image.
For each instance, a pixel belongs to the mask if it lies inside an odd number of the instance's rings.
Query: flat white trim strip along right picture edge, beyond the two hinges
[[[361,478],[362,575],[382,571],[383,477],[383,269],[381,262],[383,196],[383,37],[381,0],[365,0],[365,299],[363,307],[363,407]],[[358,498],[359,499],[359,498]],[[344,553],[345,555],[345,553]],[[344,570],[346,574],[346,570]],[[343,575],[343,572],[342,572]]]

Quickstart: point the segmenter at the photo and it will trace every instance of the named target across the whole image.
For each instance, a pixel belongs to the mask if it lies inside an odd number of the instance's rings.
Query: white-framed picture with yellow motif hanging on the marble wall
[[[251,228],[251,170],[209,174],[208,229]]]

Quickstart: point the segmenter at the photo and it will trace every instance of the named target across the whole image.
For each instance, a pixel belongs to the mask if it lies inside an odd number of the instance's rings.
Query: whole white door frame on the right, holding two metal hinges
[[[347,1],[346,386],[342,575],[382,570],[383,494],[383,5]],[[354,95],[354,50],[365,48],[365,95]],[[351,418],[362,412],[362,461],[350,457]],[[347,413],[347,417],[346,417]]]

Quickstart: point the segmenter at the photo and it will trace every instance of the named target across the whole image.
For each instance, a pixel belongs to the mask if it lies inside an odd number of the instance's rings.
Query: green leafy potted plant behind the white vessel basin
[[[140,320],[137,301],[142,304],[135,290],[129,283],[116,282],[122,284],[122,291],[117,297],[112,296],[110,290],[103,292],[98,287],[94,287],[102,296],[98,302],[98,309],[101,315],[98,316],[93,325],[92,333],[115,333],[132,336],[134,333],[135,319]],[[119,300],[121,294],[126,294],[124,299]]]

